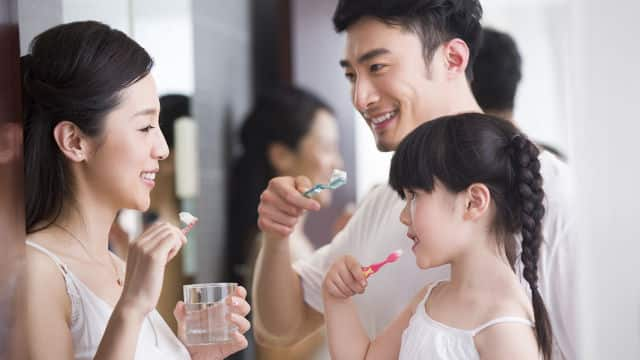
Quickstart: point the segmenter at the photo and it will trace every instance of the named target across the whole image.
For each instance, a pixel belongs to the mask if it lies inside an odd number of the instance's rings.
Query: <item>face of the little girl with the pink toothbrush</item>
[[[447,264],[467,245],[464,195],[449,192],[436,181],[431,193],[405,189],[406,205],[400,221],[421,269]]]

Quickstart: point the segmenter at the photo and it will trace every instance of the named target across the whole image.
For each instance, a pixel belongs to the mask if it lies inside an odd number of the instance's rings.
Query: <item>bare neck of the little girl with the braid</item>
[[[496,239],[474,241],[478,246],[468,249],[451,262],[451,285],[455,288],[502,287],[505,281],[517,279]]]

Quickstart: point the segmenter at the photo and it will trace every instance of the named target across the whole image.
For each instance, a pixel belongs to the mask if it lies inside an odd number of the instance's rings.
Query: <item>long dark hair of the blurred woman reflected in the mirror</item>
[[[246,281],[258,233],[258,203],[269,180],[276,176],[268,158],[275,143],[297,151],[319,110],[333,110],[316,95],[293,87],[273,89],[258,96],[240,130],[244,152],[234,162],[227,202],[227,274]],[[248,267],[246,265],[249,265]]]

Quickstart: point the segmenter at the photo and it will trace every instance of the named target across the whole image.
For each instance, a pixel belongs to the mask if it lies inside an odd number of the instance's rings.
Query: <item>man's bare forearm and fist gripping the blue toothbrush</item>
[[[289,235],[300,216],[320,208],[301,194],[310,186],[304,177],[279,177],[260,196],[258,226],[264,241],[254,272],[253,309],[256,338],[263,344],[294,344],[322,324],[322,315],[304,302],[289,255]]]

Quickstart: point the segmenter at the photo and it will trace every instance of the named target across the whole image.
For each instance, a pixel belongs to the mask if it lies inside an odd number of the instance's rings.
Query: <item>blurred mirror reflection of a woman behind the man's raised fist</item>
[[[305,175],[314,183],[328,183],[333,169],[342,167],[338,126],[331,108],[315,95],[297,88],[270,91],[258,97],[241,129],[242,156],[230,181],[228,268],[237,281],[250,283],[259,246],[257,228],[260,193],[276,176]],[[331,192],[315,197],[323,206]],[[305,217],[291,236],[291,259],[311,255],[313,245],[304,233]],[[261,349],[261,359],[328,358],[323,336],[316,334],[293,349]]]

